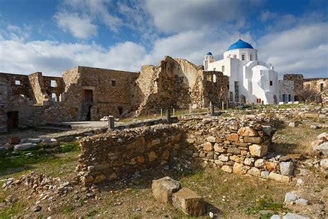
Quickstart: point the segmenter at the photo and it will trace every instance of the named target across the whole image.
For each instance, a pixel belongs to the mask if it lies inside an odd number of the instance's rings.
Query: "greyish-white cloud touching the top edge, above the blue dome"
[[[152,15],[158,30],[179,33],[237,21],[258,4],[257,1],[242,0],[146,0],[145,8]]]

